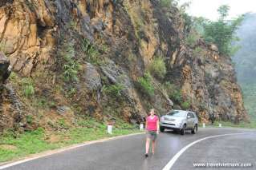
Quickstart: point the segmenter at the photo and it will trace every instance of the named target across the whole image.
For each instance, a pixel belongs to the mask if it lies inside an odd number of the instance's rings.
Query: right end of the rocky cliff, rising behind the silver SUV
[[[243,106],[242,91],[230,58],[219,56],[214,45],[198,42],[195,49],[181,49],[175,65],[181,80],[182,93],[192,101],[192,109],[197,110],[202,121],[239,121],[248,120]],[[183,60],[183,59],[182,59]],[[175,68],[177,67],[177,68]]]

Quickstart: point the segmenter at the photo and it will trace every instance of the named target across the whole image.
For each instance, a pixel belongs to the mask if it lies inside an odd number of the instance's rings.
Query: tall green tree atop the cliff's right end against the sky
[[[230,6],[220,6],[218,8],[219,18],[217,22],[204,22],[204,38],[206,42],[216,44],[219,52],[226,56],[231,56],[238,50],[238,46],[232,45],[238,41],[236,30],[241,25],[243,15],[233,20],[227,20]]]

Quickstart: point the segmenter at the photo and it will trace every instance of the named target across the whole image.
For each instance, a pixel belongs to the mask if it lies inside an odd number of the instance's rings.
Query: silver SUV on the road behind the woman
[[[165,132],[165,128],[173,129],[185,134],[185,130],[191,130],[193,134],[197,133],[198,118],[196,113],[184,110],[172,110],[161,117],[160,131]]]

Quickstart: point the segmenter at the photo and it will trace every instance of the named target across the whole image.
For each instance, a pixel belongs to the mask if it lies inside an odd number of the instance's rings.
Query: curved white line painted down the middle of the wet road
[[[200,140],[196,140],[196,141],[186,145],[184,148],[181,148],[181,150],[179,152],[177,152],[175,156],[173,156],[172,160],[170,160],[169,163],[166,164],[162,170],[170,170],[173,167],[173,164],[177,161],[177,159],[181,156],[181,154],[183,152],[185,152],[188,148],[193,146],[193,144],[197,144],[198,142],[201,142],[202,140],[208,140],[210,138],[221,137],[221,136],[242,135],[242,134],[246,134],[246,133],[248,133],[248,132],[229,133],[229,134],[223,134],[223,135],[208,136],[205,138],[201,138]]]

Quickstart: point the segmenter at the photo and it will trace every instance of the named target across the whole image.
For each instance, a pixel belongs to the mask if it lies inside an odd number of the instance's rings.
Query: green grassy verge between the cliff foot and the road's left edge
[[[67,126],[65,121],[57,123]],[[10,130],[6,131],[0,138],[0,162],[61,148],[70,144],[139,132],[138,128],[124,121],[116,122],[112,135],[107,134],[107,125],[94,119],[79,120],[78,125],[79,127],[68,128],[52,134],[48,134],[43,128],[22,134]],[[51,139],[51,136],[55,136],[55,140]]]

